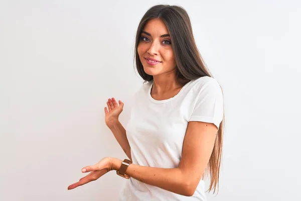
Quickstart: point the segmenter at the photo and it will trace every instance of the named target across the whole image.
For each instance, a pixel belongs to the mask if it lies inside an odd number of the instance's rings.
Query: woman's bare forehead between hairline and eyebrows
[[[169,34],[169,31],[160,19],[149,20],[143,28],[143,31],[150,33],[152,36],[161,36],[163,34]]]

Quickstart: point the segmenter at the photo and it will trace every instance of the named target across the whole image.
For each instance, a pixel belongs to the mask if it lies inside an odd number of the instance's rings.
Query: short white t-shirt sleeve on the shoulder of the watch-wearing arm
[[[223,92],[216,79],[211,78],[198,85],[198,96],[189,121],[213,123],[219,129],[223,120]]]

